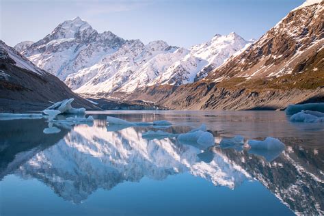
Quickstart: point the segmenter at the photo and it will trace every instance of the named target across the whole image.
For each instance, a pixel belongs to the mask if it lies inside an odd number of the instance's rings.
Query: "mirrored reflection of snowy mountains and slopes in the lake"
[[[150,121],[152,114],[133,118]],[[291,211],[323,214],[323,148],[307,146],[303,139],[280,137],[284,152],[222,149],[217,144],[206,148],[174,138],[144,139],[146,131],[160,129],[106,126],[104,119],[96,116],[92,126],[57,126],[61,131],[49,135],[42,133],[44,120],[0,121],[0,180],[8,174],[36,178],[73,203],[87,200],[97,189],[110,190],[144,177],[163,180],[189,173],[230,189],[258,180]],[[190,129],[175,124],[162,130]],[[211,132],[218,141],[224,135]]]

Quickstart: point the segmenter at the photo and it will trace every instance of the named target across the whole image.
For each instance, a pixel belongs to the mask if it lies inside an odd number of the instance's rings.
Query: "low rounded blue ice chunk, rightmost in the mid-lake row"
[[[284,150],[284,144],[273,137],[267,137],[264,141],[249,139],[247,144],[251,149],[262,149],[262,150]]]

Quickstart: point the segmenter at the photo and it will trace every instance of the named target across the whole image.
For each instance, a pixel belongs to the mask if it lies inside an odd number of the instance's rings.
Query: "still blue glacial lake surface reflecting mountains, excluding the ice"
[[[93,124],[0,121],[0,215],[321,215],[324,123],[283,111],[89,111]],[[170,127],[107,126],[106,116]],[[215,146],[144,139],[206,124]],[[280,139],[280,152],[221,148]]]

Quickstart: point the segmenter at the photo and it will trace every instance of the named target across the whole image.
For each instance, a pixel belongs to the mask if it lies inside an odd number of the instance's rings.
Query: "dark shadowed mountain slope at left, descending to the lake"
[[[0,111],[41,110],[66,98],[75,98],[77,107],[95,108],[0,40]]]

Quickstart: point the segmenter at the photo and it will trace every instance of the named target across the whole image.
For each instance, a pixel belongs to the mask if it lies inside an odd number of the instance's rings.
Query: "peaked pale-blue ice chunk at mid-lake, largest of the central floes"
[[[191,143],[195,142],[202,146],[213,146],[215,144],[213,134],[206,131],[202,131],[204,129],[206,129],[206,126],[202,124],[202,126],[200,126],[200,128],[198,129],[193,129],[188,133],[181,133],[180,135],[178,135],[178,140],[183,143],[188,141]]]

